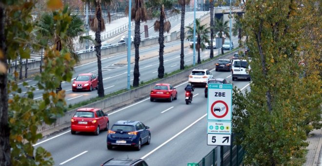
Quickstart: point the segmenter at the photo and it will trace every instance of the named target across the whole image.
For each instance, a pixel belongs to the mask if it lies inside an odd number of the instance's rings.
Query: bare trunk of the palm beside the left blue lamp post
[[[140,71],[139,71],[139,60],[140,60],[140,55],[139,55],[139,46],[141,42],[141,36],[140,36],[140,25],[141,22],[135,21],[135,29],[134,29],[134,47],[135,47],[135,64],[134,64],[134,79],[133,79],[133,86],[138,87],[139,86],[139,77],[140,77]],[[131,40],[130,38],[128,40]]]

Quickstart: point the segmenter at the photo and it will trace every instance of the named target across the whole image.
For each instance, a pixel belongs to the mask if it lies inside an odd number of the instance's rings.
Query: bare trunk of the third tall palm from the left
[[[162,13],[162,8],[161,8]],[[159,30],[159,68],[158,68],[158,78],[164,77],[164,66],[163,66],[163,51],[164,51],[164,37],[163,37],[163,28],[164,28],[164,17],[160,15],[160,30]]]

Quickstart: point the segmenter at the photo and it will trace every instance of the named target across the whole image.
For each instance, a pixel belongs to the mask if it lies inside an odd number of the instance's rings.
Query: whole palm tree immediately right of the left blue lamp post
[[[127,8],[128,9],[128,8]],[[135,28],[134,28],[134,47],[135,47],[135,64],[134,64],[134,71],[133,71],[133,86],[139,86],[139,46],[141,42],[141,35],[140,35],[140,25],[141,21],[147,21],[148,17],[146,15],[144,0],[135,0],[134,6],[131,9],[131,20],[135,21]],[[131,40],[131,39],[128,39]]]

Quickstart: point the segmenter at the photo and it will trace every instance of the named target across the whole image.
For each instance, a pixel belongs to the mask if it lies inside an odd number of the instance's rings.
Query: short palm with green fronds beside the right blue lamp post
[[[206,24],[201,25],[200,20],[196,19],[196,36],[197,36],[197,45],[196,48],[198,50],[198,63],[201,63],[200,59],[200,49],[203,51],[205,49],[204,42],[209,42],[209,29],[210,27],[206,27]],[[188,32],[190,35],[187,36],[187,39],[193,38],[193,27],[186,26],[188,28]]]

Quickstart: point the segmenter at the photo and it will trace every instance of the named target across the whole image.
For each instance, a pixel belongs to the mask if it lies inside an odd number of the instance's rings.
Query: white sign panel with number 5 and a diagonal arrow
[[[207,134],[207,145],[231,145],[231,135],[230,134]]]

